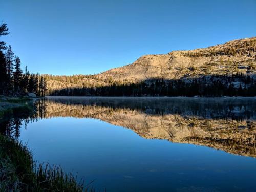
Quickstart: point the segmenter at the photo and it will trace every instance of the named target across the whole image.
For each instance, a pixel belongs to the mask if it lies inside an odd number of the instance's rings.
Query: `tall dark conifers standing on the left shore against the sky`
[[[8,35],[8,27],[5,23],[0,25],[0,36]],[[45,96],[47,92],[47,81],[38,73],[23,73],[21,61],[12,51],[11,45],[0,41],[0,94],[10,96],[22,96],[34,93]]]

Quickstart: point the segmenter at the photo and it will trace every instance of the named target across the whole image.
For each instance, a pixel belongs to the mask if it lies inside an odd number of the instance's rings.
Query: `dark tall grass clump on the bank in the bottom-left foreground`
[[[16,139],[0,135],[0,150],[0,191],[95,191],[60,166],[36,164],[32,152]]]

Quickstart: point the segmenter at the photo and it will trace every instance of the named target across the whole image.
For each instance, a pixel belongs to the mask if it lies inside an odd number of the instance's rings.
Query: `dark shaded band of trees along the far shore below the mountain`
[[[51,90],[51,96],[256,96],[256,82],[249,75],[212,75],[195,79],[150,79],[139,83]]]

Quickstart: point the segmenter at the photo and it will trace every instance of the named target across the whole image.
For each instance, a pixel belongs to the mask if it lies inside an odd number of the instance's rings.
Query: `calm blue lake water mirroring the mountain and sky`
[[[15,120],[35,160],[101,191],[256,188],[255,98],[49,97]]]

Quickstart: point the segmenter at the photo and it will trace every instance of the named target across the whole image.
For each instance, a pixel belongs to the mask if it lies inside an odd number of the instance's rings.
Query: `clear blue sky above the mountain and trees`
[[[256,36],[256,0],[0,0],[4,40],[23,68],[94,74],[145,54]]]

